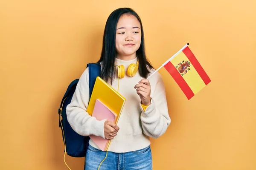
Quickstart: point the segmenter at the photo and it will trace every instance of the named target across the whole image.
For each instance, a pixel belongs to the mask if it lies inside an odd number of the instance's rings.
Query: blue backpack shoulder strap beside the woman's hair
[[[89,90],[90,90],[90,97],[93,92],[93,86],[96,81],[96,77],[98,77],[101,73],[100,63],[88,63],[86,67],[89,67]]]

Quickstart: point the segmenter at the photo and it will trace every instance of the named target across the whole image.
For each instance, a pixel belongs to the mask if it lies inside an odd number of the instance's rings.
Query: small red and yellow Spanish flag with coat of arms
[[[163,64],[188,99],[211,80],[188,47],[188,43]]]

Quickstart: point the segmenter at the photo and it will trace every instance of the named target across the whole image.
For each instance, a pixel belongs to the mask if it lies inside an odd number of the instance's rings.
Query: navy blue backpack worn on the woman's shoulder
[[[99,63],[88,63],[89,67],[89,89],[90,96],[93,91],[93,86],[96,81],[96,77],[99,76],[101,72],[101,67]],[[67,155],[72,157],[84,157],[86,156],[87,148],[89,145],[89,136],[81,136],[76,133],[69,122],[67,121],[66,108],[70,104],[73,94],[76,90],[76,85],[79,79],[75,79],[67,88],[66,93],[64,94],[61,100],[61,106],[58,109],[59,114],[59,127],[62,131],[62,139],[64,145],[66,145],[64,152],[67,152]],[[61,126],[62,125],[62,126]]]

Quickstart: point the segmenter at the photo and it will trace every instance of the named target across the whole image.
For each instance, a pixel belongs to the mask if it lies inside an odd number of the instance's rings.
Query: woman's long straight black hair
[[[118,8],[114,10],[105,25],[102,53],[98,62],[103,62],[102,72],[100,77],[106,82],[109,80],[111,84],[115,77],[115,58],[116,58],[116,25],[122,14],[131,14],[136,17],[140,22],[141,27],[141,43],[140,48],[136,51],[137,58],[139,60],[139,74],[141,77],[148,77],[149,69],[153,68],[151,63],[148,61],[145,54],[145,42],[142,22],[139,15],[131,8]]]

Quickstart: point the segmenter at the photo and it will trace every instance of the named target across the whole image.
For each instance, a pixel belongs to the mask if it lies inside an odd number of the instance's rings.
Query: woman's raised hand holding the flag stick
[[[135,85],[134,88],[137,88],[137,94],[140,95],[141,102],[143,105],[148,106],[151,104],[150,100],[150,93],[151,93],[151,86],[148,79],[141,79],[139,84]]]

